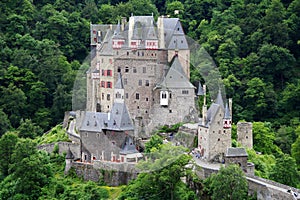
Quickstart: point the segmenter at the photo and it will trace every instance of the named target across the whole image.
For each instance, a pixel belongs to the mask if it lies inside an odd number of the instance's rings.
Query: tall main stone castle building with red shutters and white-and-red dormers
[[[197,122],[190,50],[178,18],[156,23],[153,16],[131,16],[128,23],[91,24],[91,47],[87,111],[108,113],[121,97],[136,138],[149,138],[162,125]],[[124,93],[114,94],[119,73]]]

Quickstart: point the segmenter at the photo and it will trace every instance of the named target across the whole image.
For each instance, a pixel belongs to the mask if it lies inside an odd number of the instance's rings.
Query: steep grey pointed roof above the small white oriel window
[[[174,56],[171,67],[163,81],[158,84],[159,88],[194,88],[183,71],[178,56]]]

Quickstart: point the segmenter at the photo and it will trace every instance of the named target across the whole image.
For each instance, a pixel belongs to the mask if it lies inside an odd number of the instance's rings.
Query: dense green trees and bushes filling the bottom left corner
[[[57,151],[49,155],[31,139],[6,133],[0,138],[0,199],[110,199],[121,191],[84,182],[72,169],[66,176],[64,167]]]

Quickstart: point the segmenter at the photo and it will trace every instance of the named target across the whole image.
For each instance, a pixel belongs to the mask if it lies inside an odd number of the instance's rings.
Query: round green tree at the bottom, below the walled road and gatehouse
[[[247,199],[248,184],[237,165],[222,167],[211,182],[212,199]]]

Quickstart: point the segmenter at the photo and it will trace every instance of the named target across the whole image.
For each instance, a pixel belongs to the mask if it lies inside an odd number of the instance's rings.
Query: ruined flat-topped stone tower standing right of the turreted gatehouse
[[[243,147],[253,148],[253,134],[251,122],[238,122],[237,123],[237,141]]]

